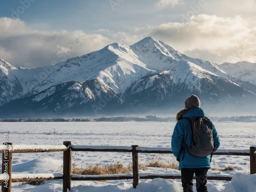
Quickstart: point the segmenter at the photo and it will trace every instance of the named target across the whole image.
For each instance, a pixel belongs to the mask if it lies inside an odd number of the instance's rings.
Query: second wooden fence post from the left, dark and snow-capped
[[[72,151],[70,149],[71,141],[63,141],[63,145],[67,146],[67,150],[63,152],[63,192],[67,192],[71,188],[72,174]]]

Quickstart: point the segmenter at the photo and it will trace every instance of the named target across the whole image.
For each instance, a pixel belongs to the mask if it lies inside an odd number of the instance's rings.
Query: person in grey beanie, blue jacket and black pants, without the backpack
[[[205,117],[203,109],[200,108],[200,100],[196,95],[191,95],[185,100],[185,108],[178,112],[176,120],[178,121],[174,128],[172,136],[172,151],[179,161],[179,170],[181,170],[181,182],[183,191],[193,191],[193,176],[196,175],[196,188],[199,192],[207,192],[207,171],[210,168],[210,156],[197,157],[187,151],[193,133],[191,122],[181,118]],[[220,146],[220,139],[215,126],[212,125],[212,135],[214,137],[215,151]]]

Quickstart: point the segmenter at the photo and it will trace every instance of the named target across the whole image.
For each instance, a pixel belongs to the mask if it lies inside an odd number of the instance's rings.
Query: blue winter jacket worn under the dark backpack
[[[193,108],[185,112],[182,117],[205,117],[204,111],[201,108]],[[220,146],[220,139],[216,132],[215,126],[213,125],[213,136],[214,136],[214,145],[216,150]],[[193,133],[191,129],[191,122],[187,119],[179,120],[175,127],[174,133],[172,136],[172,151],[175,157],[180,157],[179,169],[182,168],[210,168],[210,156],[206,157],[197,157],[191,155],[186,147],[189,147],[192,141]],[[181,148],[184,150],[181,151]],[[215,150],[215,151],[216,151]]]

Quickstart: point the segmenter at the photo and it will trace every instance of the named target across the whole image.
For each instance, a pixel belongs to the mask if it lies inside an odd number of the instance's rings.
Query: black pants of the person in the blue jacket
[[[207,190],[208,168],[182,168],[181,182],[183,192],[193,192],[193,176],[196,175],[197,192],[208,192]]]

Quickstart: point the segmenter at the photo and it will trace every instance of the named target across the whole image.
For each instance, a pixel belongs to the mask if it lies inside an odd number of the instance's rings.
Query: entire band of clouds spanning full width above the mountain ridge
[[[219,17],[200,14],[185,23],[133,27],[114,32],[38,31],[19,19],[0,18],[0,58],[15,67],[39,67],[66,61],[99,50],[112,42],[132,45],[146,36],[162,40],[174,49],[195,58],[216,63],[247,60],[256,63],[256,27],[242,16]]]

